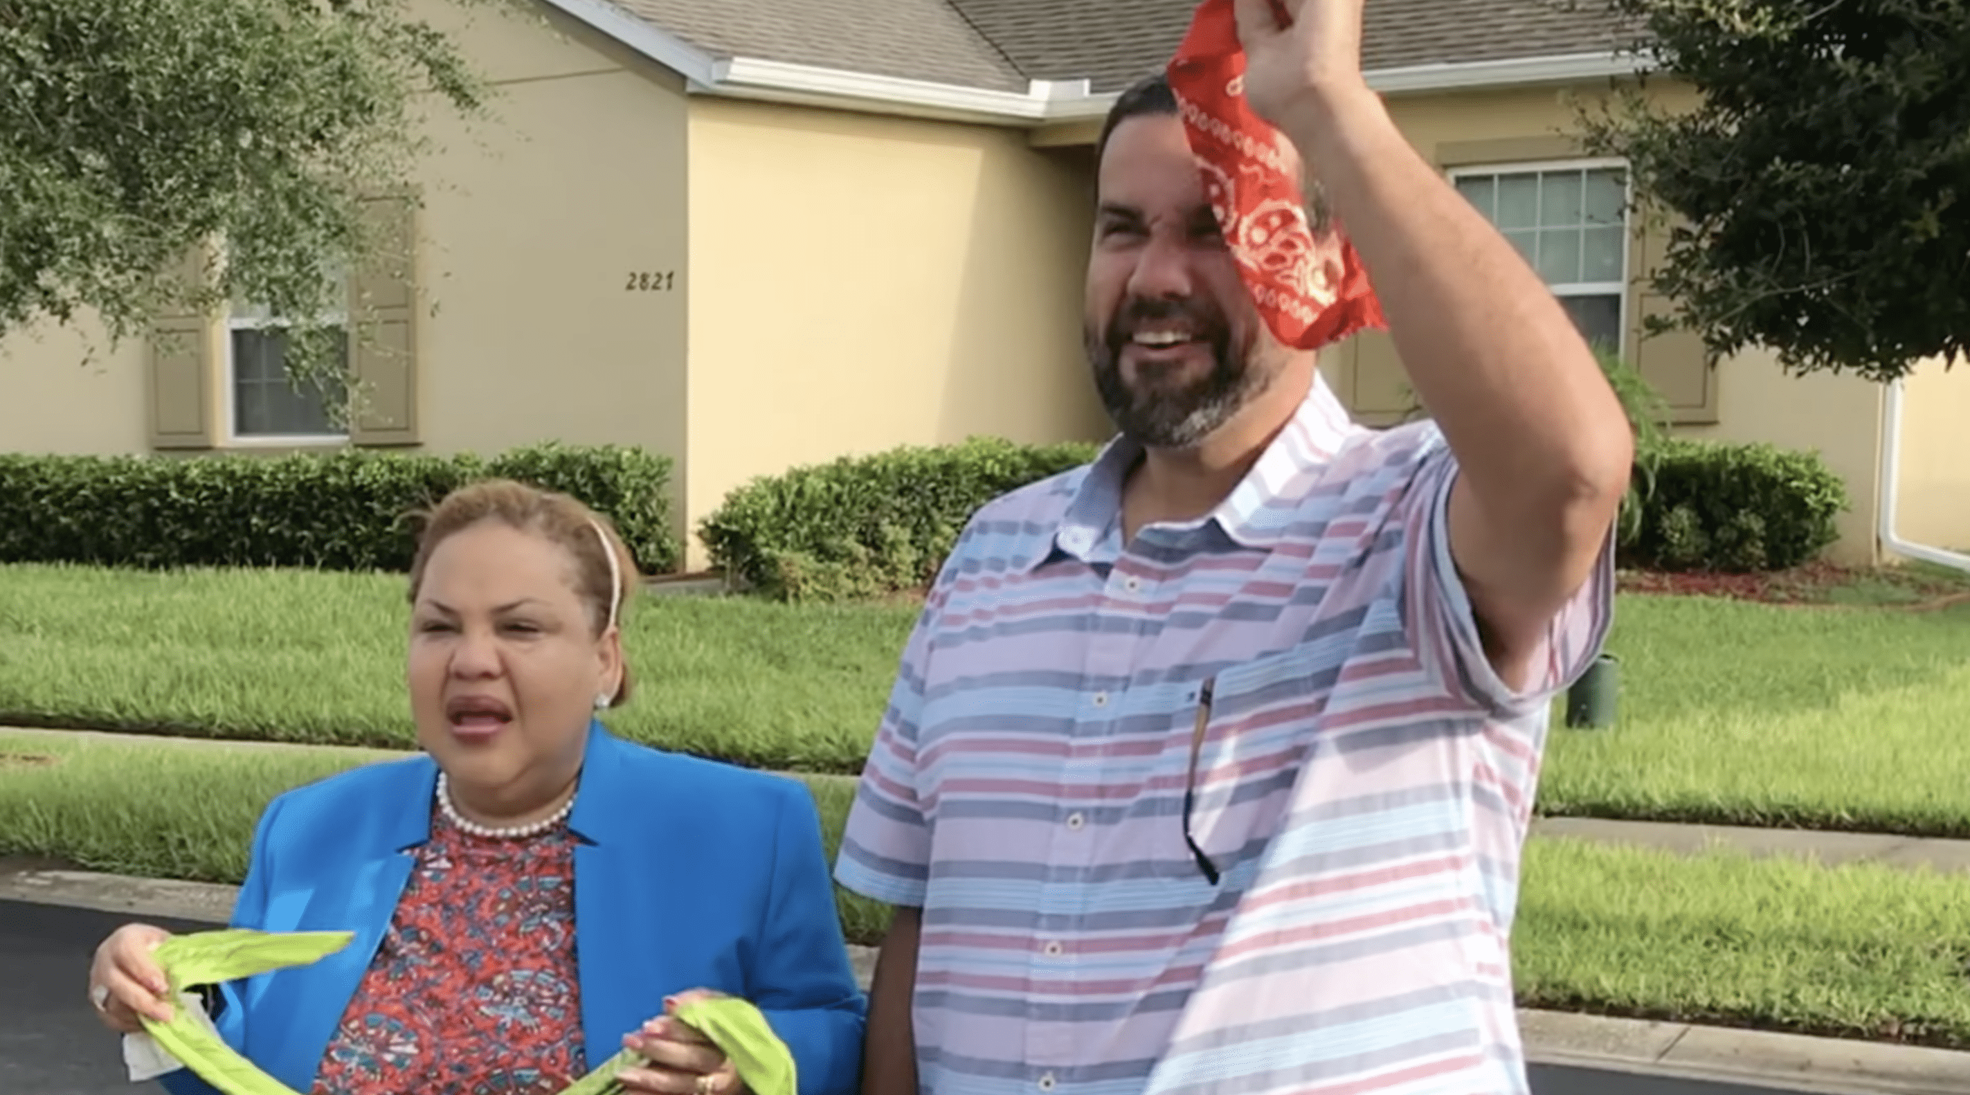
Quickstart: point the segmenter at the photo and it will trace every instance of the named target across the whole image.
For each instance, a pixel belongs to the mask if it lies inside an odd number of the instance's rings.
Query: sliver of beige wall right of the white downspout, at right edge
[[[1895,536],[1970,555],[1970,362],[1923,362],[1901,400]]]

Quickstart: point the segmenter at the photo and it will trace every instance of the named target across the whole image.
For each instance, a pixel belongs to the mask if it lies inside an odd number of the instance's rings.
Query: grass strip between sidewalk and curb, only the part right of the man
[[[1519,1002],[1970,1048],[1970,876],[1535,839]]]

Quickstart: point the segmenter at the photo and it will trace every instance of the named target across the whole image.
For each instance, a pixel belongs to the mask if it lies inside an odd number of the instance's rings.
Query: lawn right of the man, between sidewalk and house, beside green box
[[[1554,729],[1543,813],[1970,837],[1970,605],[1627,599],[1611,731]]]

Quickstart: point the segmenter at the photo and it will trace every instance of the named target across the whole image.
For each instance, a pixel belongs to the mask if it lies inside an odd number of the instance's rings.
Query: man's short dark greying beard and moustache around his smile
[[[1188,319],[1196,339],[1210,349],[1212,366],[1182,384],[1166,382],[1178,364],[1139,368],[1135,384],[1121,374],[1121,353],[1135,331],[1156,319]],[[1105,331],[1084,331],[1095,390],[1115,427],[1145,449],[1192,449],[1231,419],[1265,386],[1265,374],[1231,343],[1229,325],[1188,301],[1131,299]]]

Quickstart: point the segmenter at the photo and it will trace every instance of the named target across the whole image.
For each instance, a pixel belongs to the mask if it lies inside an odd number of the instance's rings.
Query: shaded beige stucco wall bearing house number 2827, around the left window
[[[494,83],[491,114],[427,118],[420,163],[420,431],[427,451],[561,439],[682,461],[682,81],[534,6],[422,12]],[[624,291],[676,272],[674,291]],[[0,343],[0,447],[146,449],[140,343],[89,319]]]

